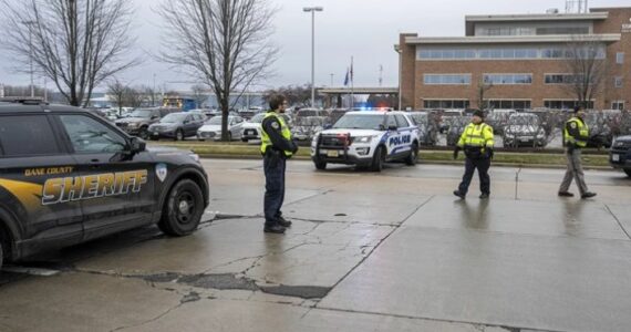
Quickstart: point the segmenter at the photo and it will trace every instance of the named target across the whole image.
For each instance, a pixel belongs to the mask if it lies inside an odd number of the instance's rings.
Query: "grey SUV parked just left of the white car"
[[[195,136],[197,129],[204,125],[206,116],[201,113],[179,112],[170,113],[161,118],[159,122],[149,125],[151,139],[173,138],[184,141],[186,137]]]

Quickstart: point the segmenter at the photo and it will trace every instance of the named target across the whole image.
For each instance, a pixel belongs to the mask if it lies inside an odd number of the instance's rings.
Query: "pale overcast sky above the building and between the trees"
[[[134,30],[137,50],[154,52],[161,46],[158,1],[130,0],[136,9]],[[273,42],[281,48],[275,63],[276,76],[266,86],[303,84],[311,80],[311,14],[303,7],[319,6],[316,14],[316,84],[341,86],[351,56],[354,58],[355,86],[377,86],[383,66],[383,86],[396,86],[397,55],[393,45],[400,32],[425,37],[464,35],[466,14],[544,13],[549,8],[565,10],[565,0],[268,0],[278,6]],[[590,8],[631,7],[630,0],[591,0]],[[2,50],[0,49],[0,53]],[[3,59],[6,59],[3,56]],[[0,64],[0,83],[24,84],[29,76]],[[166,85],[186,90],[186,75],[151,58],[143,65],[121,75],[134,85]],[[42,80],[37,80],[41,84]],[[38,84],[38,83],[37,83]]]

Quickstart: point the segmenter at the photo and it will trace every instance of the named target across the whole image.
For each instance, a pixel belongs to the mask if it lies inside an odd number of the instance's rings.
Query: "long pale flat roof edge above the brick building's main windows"
[[[569,34],[548,35],[482,35],[482,37],[407,37],[406,44],[515,44],[515,43],[568,43],[576,37]],[[581,40],[618,42],[620,33],[581,34]]]

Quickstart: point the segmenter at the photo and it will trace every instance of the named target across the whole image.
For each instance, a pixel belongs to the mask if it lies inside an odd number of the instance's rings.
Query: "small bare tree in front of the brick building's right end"
[[[600,95],[607,79],[607,56],[598,38],[573,35],[566,49],[566,70],[571,74],[563,82],[566,91],[588,107]]]

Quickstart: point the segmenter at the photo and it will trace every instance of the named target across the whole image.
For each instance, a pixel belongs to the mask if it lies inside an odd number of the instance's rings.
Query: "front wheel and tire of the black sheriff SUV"
[[[168,236],[187,236],[197,229],[203,214],[204,195],[201,189],[193,180],[183,179],[170,188],[158,227]]]

